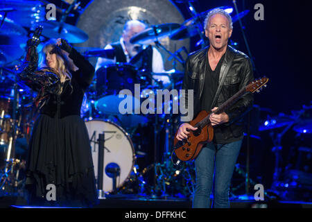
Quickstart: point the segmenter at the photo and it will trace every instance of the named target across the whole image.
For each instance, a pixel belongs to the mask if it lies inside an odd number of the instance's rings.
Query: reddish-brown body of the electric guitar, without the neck
[[[200,111],[198,116],[190,122],[191,126],[195,126],[196,123],[200,122],[202,119],[207,117],[210,112],[205,110]],[[194,160],[197,155],[200,153],[202,146],[211,142],[214,138],[214,128],[211,124],[207,124],[202,129],[195,131],[190,131],[187,142],[180,142],[177,140],[177,133],[175,133],[174,146],[175,146],[175,155],[182,160]]]

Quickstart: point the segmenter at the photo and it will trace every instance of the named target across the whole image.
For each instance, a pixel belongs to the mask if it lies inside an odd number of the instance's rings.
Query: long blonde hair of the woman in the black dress
[[[56,56],[55,72],[60,77],[60,82],[64,83],[67,78],[71,80],[71,73],[69,69],[73,69],[74,65],[73,62],[70,62],[68,53],[56,46],[56,42],[57,41],[55,39],[51,39],[46,42],[46,44],[44,44],[42,48],[42,58],[39,67],[42,69],[44,69],[44,67],[48,67],[48,65],[46,65],[46,54],[54,50]]]

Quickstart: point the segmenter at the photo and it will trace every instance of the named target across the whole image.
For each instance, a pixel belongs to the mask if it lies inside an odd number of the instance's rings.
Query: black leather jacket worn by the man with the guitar
[[[200,112],[202,99],[202,92],[205,84],[205,67],[207,62],[207,52],[209,46],[205,49],[193,52],[187,58],[184,79],[182,89],[193,89],[193,114],[194,117]],[[225,52],[225,58],[221,65],[219,83],[223,75],[225,75],[225,67],[229,60],[232,60],[232,65],[229,67],[227,76],[225,77],[220,94],[216,99],[216,102],[212,107],[219,107],[222,103],[232,97],[239,89],[245,87],[254,80],[252,64],[250,58],[241,51],[233,49],[231,46],[227,46]],[[221,85],[218,85],[218,88]],[[186,92],[186,105],[188,101],[188,94]],[[243,137],[244,123],[243,115],[252,108],[254,97],[252,93],[245,94],[239,99],[231,108],[225,110],[229,117],[229,122],[214,126],[214,128],[220,128],[219,132],[222,132],[225,140],[233,140],[233,138]],[[194,119],[193,117],[193,119]],[[216,132],[216,130],[215,130]]]

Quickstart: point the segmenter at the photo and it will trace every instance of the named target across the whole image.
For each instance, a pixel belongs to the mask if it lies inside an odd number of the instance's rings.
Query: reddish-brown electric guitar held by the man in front
[[[202,146],[204,146],[207,142],[212,141],[214,138],[214,128],[211,126],[211,122],[209,121],[211,113],[220,114],[224,112],[227,110],[227,108],[238,101],[241,96],[248,92],[259,92],[259,89],[262,89],[263,86],[266,87],[266,83],[268,83],[268,78],[255,80],[246,87],[243,87],[241,90],[239,90],[239,92],[225,101],[225,103],[220,105],[220,107],[217,110],[214,110],[214,112],[207,112],[206,110],[200,111],[198,116],[189,123],[191,126],[198,129],[189,130],[190,133],[187,139],[178,140],[177,133],[175,133],[173,144],[177,158],[182,161],[194,160],[198,153],[200,153]]]

